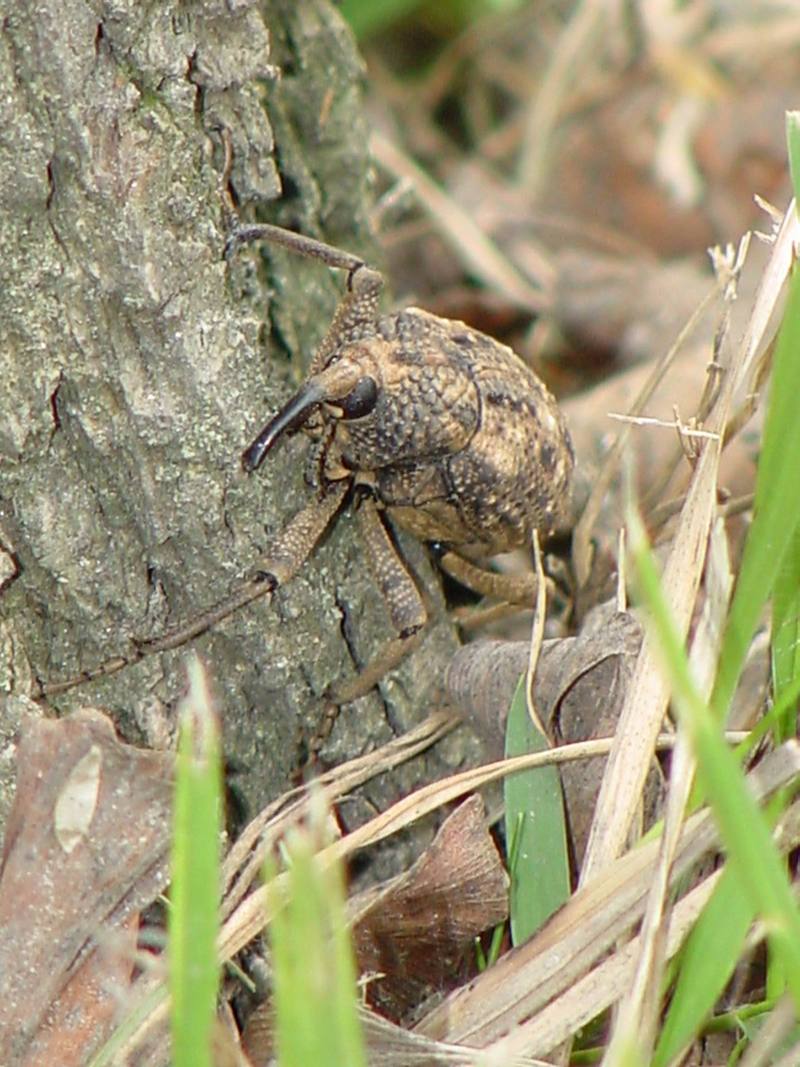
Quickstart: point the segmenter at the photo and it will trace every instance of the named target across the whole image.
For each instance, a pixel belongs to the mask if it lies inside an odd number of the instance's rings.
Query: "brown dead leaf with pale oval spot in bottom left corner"
[[[0,1063],[80,1067],[131,982],[167,880],[172,758],[83,708],[23,722],[0,864]]]

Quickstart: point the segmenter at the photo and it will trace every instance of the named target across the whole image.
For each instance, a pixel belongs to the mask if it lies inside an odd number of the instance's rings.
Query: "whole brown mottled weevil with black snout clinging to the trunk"
[[[313,495],[268,546],[251,578],[214,608],[133,655],[107,660],[61,691],[176,648],[243,604],[285,585],[337,513],[353,500],[375,584],[398,635],[339,691],[371,688],[426,624],[423,599],[386,523],[443,547],[441,563],[481,593],[513,599],[507,578],[481,560],[528,544],[567,514],[574,455],[564,418],[546,386],[508,347],[463,322],[417,307],[381,314],[382,275],[364,260],[301,234],[260,224],[236,228],[226,256],[269,241],[347,273],[347,291],[298,392],[242,453],[255,472],[286,436],[311,441]],[[511,594],[511,595],[510,595]]]

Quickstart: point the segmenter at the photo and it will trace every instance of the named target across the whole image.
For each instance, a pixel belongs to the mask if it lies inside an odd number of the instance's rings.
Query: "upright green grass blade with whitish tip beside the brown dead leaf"
[[[189,665],[176,761],[169,912],[172,1063],[211,1067],[217,1010],[222,774],[220,736],[198,659]]]

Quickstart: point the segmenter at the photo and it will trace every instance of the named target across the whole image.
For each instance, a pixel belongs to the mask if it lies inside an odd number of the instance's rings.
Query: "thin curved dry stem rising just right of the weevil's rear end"
[[[678,353],[683,349],[684,345],[690,337],[694,328],[698,325],[702,317],[705,315],[706,310],[711,306],[711,304],[717,300],[720,291],[720,286],[717,284],[713,289],[710,289],[703,300],[700,302],[695,310],[691,314],[686,325],[683,328],[681,333],[675,338],[675,343],[665,354],[662,360],[656,364],[653,368],[652,373],[647,378],[646,382],[642,386],[639,395],[634,400],[630,405],[630,415],[639,415],[644,408],[645,403],[655,393],[656,388],[660,384],[665,375],[669,368],[674,363]],[[623,451],[630,439],[631,425],[626,425],[618,434],[617,440],[608,451],[608,455],[603,461],[603,466],[594,480],[594,485],[589,499],[586,503],[580,519],[575,526],[575,531],[573,534],[573,564],[575,567],[575,574],[579,586],[586,585],[592,566],[592,547],[591,539],[592,532],[594,530],[594,525],[597,522],[597,516],[603,510],[603,504],[608,493],[611,482],[617,477],[620,461],[622,459]]]

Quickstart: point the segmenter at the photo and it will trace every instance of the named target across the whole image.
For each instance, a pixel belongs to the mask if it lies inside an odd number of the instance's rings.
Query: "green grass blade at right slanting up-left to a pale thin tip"
[[[630,516],[630,545],[653,637],[672,685],[673,704],[698,762],[698,779],[749,906],[764,920],[767,938],[800,1012],[800,913],[769,824],[747,787],[736,757],[722,738],[692,682],[684,647],[670,618],[641,521]]]

